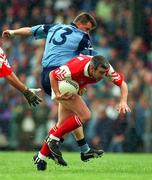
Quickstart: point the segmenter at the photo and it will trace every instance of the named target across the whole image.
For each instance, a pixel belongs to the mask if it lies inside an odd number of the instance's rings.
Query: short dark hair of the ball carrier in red
[[[103,56],[93,56],[91,59],[91,64],[95,70],[97,70],[98,67],[102,67],[103,69],[108,69],[110,67],[110,64]]]

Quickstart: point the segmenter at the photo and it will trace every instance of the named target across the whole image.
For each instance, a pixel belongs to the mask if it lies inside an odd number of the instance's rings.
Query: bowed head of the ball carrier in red
[[[110,65],[108,61],[103,56],[93,56],[90,62],[89,74],[100,79],[105,76]]]

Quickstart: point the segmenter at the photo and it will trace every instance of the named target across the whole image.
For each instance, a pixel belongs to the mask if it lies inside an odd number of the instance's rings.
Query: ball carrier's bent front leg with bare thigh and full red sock
[[[68,117],[57,129],[56,132],[50,135],[50,141],[48,142],[48,146],[52,152],[57,156],[62,156],[60,149],[57,144],[59,144],[59,140],[65,134],[70,133],[76,128],[80,127],[83,123],[90,119],[91,112],[83,99],[75,95],[75,98],[71,98],[66,101],[60,101],[60,107],[62,110],[67,109],[70,113],[74,115]],[[61,109],[59,109],[61,110]],[[63,113],[65,113],[63,111]],[[59,112],[60,116],[62,116],[62,112]],[[62,117],[61,117],[62,119]]]

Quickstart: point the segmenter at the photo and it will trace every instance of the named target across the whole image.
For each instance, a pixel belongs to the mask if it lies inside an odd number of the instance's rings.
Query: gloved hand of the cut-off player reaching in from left
[[[42,99],[36,95],[37,92],[40,92],[41,89],[27,89],[23,94],[25,96],[25,98],[27,99],[28,103],[30,106],[36,106],[38,105],[40,102],[42,102]]]

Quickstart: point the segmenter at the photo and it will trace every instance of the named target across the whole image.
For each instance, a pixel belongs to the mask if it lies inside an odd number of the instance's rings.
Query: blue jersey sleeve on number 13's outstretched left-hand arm
[[[31,27],[31,32],[35,39],[45,39],[47,37],[48,31],[54,27],[56,24],[47,25],[41,24]]]

